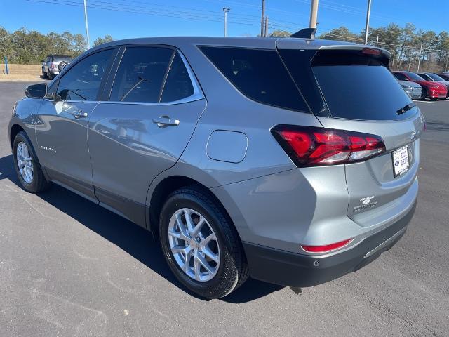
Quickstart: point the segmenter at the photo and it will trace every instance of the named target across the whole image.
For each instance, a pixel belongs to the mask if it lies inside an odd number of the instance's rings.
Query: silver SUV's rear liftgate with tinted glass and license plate
[[[304,91],[309,99],[321,97],[320,103],[311,105],[321,107],[315,114],[325,128],[375,134],[384,141],[386,152],[382,155],[345,165],[347,214],[358,225],[370,227],[389,222],[413,205],[417,193],[418,138],[424,119],[389,71],[387,56],[362,48],[344,50],[334,46],[309,51],[309,75],[313,76],[309,83],[316,90]],[[280,53],[301,86],[304,79],[298,77],[307,74],[301,73],[296,64],[301,51]]]

